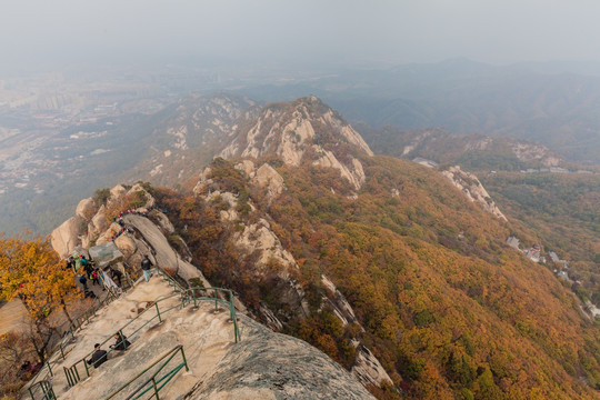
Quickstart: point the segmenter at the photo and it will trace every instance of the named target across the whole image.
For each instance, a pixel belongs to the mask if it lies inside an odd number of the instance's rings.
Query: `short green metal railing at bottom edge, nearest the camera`
[[[171,360],[177,356],[181,354],[181,362],[179,362],[177,366],[172,367],[169,370],[166,370],[163,372],[163,369],[171,362]],[[164,360],[166,359],[166,360]],[[163,361],[164,360],[164,361]],[[163,361],[163,362],[162,362]],[[164,388],[167,383],[173,377],[179,372],[182,368],[186,368],[186,371],[189,371],[188,361],[186,360],[186,353],[183,352],[183,347],[181,344],[176,346],[168,352],[166,352],[161,358],[159,358],[157,361],[152,362],[149,367],[147,367],[143,371],[138,373],[133,379],[131,379],[129,382],[113,391],[109,397],[107,397],[104,400],[110,400],[114,398],[117,394],[124,391],[128,387],[130,387],[133,382],[136,382],[138,379],[140,379],[146,372],[150,371],[152,368],[154,368],[157,364],[161,363],[161,366],[154,371],[154,373],[148,378],[142,384],[138,387],[138,389],[133,390],[126,400],[132,400],[132,399],[140,399],[146,394],[150,394],[146,399],[156,398],[156,400],[160,400],[159,391]],[[163,372],[163,373],[161,373]]]

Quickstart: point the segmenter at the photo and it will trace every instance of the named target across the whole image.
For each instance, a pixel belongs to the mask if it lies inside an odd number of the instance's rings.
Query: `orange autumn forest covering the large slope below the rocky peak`
[[[504,244],[520,227],[466,202],[432,170],[383,157],[361,162],[367,180],[354,197],[332,169],[270,159],[287,190],[269,202],[242,171],[218,160],[211,180],[240,199],[229,226],[218,218],[228,209],[222,201],[154,194],[209,280],[233,287],[251,309],[280,302],[276,274],[257,277],[252,258],[224,243],[243,224],[269,218],[300,266],[311,307],[306,319],[288,310],[286,330],[346,366],[353,358],[348,338],[359,334],[409,398],[596,398],[599,327],[550,271]],[[363,332],[320,308],[328,294],[322,273],[348,298]]]

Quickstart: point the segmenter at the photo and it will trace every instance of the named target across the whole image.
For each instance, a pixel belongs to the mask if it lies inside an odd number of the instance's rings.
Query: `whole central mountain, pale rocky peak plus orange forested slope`
[[[214,159],[193,192],[146,188],[180,258],[250,316],[381,399],[597,398],[600,327],[506,244],[531,240],[520,223],[433,169],[371,156],[314,98],[258,110],[236,132],[223,152],[236,158]]]

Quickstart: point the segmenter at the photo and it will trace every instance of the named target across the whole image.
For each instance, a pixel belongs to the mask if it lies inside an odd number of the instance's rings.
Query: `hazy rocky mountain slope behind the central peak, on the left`
[[[231,93],[190,93],[151,114],[71,124],[41,142],[21,138],[27,151],[0,157],[0,231],[48,233],[102,187],[183,181],[226,146],[236,120],[253,106]]]

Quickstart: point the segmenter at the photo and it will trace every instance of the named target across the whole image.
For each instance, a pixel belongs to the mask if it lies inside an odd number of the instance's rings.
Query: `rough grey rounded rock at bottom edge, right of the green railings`
[[[244,320],[244,339],[190,399],[374,399],[310,344]]]

